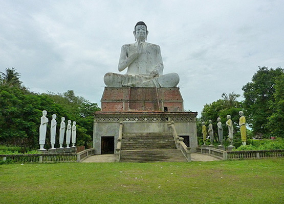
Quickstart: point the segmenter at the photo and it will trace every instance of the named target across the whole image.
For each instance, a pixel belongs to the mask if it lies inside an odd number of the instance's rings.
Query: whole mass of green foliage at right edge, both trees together
[[[283,77],[281,77],[283,73],[284,70],[279,67],[276,69],[259,67],[252,77],[252,82],[243,87],[245,97],[243,107],[254,135],[269,138],[273,133],[283,137],[282,127],[279,125],[284,117],[283,106],[281,106],[283,105]],[[278,89],[277,93],[275,87]]]

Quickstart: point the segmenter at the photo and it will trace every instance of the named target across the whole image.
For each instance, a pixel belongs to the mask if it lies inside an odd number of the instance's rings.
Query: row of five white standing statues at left
[[[55,141],[56,141],[56,127],[57,127],[57,121],[56,121],[56,114],[52,115],[52,120],[51,120],[51,125],[50,125],[50,143],[51,143],[51,149],[56,149],[54,147]],[[64,143],[64,135],[65,135],[65,129],[66,129],[66,124],[65,124],[65,118],[61,118],[60,122],[60,129],[59,129],[59,149],[63,149],[63,143]],[[46,150],[44,148],[46,144],[46,134],[47,134],[47,124],[49,120],[47,118],[47,111],[44,110],[42,111],[42,116],[40,118],[40,126],[39,126],[39,150]],[[72,138],[72,140],[71,140]],[[72,141],[72,147],[76,147],[76,122],[73,122],[73,125],[71,125],[71,120],[68,120],[67,124],[67,129],[66,129],[66,138],[65,138],[65,143],[66,143],[66,148],[71,148],[70,147],[70,142]]]

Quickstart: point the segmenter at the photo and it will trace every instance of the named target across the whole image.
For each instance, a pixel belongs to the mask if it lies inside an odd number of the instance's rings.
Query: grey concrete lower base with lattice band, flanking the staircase
[[[107,145],[105,142],[113,141],[113,151],[115,150],[120,121],[123,122],[123,133],[168,133],[168,122],[173,120],[178,136],[188,137],[191,152],[195,152],[198,144],[196,115],[197,113],[189,112],[96,112],[93,140],[95,154],[102,154],[102,148]]]

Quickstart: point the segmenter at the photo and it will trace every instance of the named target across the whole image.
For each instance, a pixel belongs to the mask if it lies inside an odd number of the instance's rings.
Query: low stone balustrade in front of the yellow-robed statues
[[[250,150],[250,151],[224,151],[211,147],[196,147],[196,152],[210,155],[221,160],[234,159],[261,159],[269,157],[284,157],[284,149],[280,150]]]

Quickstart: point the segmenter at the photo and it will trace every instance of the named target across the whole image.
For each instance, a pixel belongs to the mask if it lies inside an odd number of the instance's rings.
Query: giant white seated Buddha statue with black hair
[[[106,73],[108,87],[176,87],[180,81],[177,73],[163,75],[160,46],[146,42],[147,26],[139,21],[134,28],[135,43],[121,48],[118,70],[127,68],[126,74]]]

